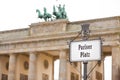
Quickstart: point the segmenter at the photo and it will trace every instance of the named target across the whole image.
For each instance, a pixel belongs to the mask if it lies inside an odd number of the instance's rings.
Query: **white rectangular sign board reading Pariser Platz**
[[[101,60],[101,40],[70,43],[70,61]]]

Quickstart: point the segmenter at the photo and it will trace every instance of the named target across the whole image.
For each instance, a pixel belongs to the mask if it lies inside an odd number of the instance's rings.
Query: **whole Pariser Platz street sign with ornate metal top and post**
[[[89,24],[81,25],[81,41],[70,43],[70,61],[82,61],[84,64],[84,80],[87,80],[87,64],[91,60],[101,60],[101,40],[88,40]]]

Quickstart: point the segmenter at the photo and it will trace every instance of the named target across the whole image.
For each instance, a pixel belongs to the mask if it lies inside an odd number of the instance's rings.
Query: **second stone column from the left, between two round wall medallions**
[[[28,80],[36,80],[36,54],[31,52],[29,56]]]

